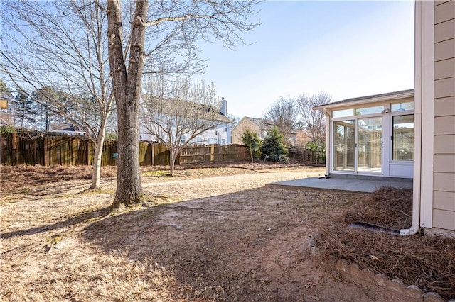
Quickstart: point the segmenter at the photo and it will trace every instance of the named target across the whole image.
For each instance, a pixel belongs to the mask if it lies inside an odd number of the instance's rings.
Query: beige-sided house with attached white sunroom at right
[[[316,107],[326,174],[413,179],[412,235],[455,236],[455,1],[416,1],[413,90]]]

